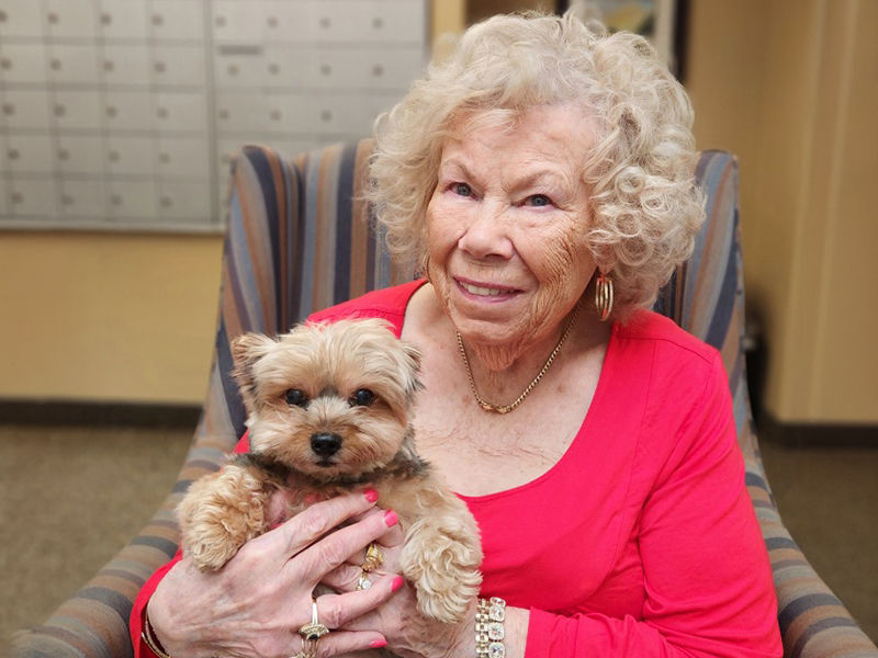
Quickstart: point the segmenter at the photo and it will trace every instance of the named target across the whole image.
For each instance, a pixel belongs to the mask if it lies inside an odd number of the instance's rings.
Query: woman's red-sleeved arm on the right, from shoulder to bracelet
[[[643,504],[638,543],[642,620],[531,610],[527,658],[783,654],[770,567],[719,356]]]

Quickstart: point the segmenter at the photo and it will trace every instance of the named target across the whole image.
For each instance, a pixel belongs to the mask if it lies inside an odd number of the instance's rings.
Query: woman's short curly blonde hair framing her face
[[[592,120],[595,140],[582,162],[590,191],[588,245],[598,268],[611,272],[614,315],[624,319],[652,304],[691,253],[703,220],[691,104],[641,36],[608,34],[571,12],[473,25],[448,59],[431,65],[378,120],[370,201],[392,252],[423,265],[425,212],[454,125],[556,103],[583,107]]]

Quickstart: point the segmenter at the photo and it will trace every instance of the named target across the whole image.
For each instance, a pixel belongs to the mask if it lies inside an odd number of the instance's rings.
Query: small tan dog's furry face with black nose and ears
[[[383,320],[300,325],[278,340],[248,333],[232,352],[251,452],[330,481],[408,447],[420,356]]]

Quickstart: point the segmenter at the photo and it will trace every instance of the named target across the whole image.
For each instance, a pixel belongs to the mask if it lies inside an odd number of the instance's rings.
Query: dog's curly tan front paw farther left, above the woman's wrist
[[[192,484],[177,508],[183,555],[201,571],[221,569],[266,527],[261,483],[228,466]]]

